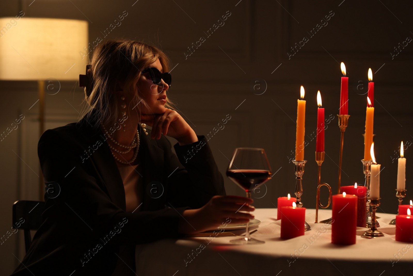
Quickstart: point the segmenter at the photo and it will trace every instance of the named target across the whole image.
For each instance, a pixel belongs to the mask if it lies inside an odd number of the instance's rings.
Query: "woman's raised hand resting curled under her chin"
[[[152,139],[160,139],[161,134],[168,134],[168,136],[178,140],[180,145],[191,144],[198,141],[195,131],[192,130],[178,112],[170,108],[166,108],[166,111],[163,114],[142,114],[140,116],[140,122],[152,127]]]

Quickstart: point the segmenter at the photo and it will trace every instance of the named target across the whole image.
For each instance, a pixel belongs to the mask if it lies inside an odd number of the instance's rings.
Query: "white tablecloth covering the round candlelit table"
[[[259,245],[233,245],[237,237],[164,239],[136,246],[137,275],[366,275],[412,274],[413,242],[397,242],[395,226],[388,223],[394,214],[377,213],[384,237],[365,239],[367,228],[357,228],[355,245],[331,243],[331,226],[315,221],[315,209],[306,209],[311,230],[305,235],[282,240],[277,209],[256,209],[261,221],[252,237]],[[318,219],[331,217],[331,210],[320,209]],[[254,228],[252,228],[254,229]],[[240,234],[239,230],[237,232]],[[241,231],[242,233],[242,231]],[[209,241],[209,242],[208,242]],[[203,245],[202,245],[203,244]],[[193,250],[193,251],[192,251]],[[195,253],[194,253],[195,252]],[[198,252],[198,253],[197,253]],[[189,255],[191,258],[189,257]],[[194,257],[192,257],[194,256]],[[409,272],[410,271],[410,272]]]

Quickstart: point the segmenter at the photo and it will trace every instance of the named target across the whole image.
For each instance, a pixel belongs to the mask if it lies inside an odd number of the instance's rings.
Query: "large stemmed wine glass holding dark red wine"
[[[252,190],[271,179],[271,168],[264,149],[236,148],[226,174],[230,180],[245,190],[247,198],[251,198]],[[246,230],[245,237],[230,240],[230,242],[235,244],[264,243],[249,236],[249,221]]]

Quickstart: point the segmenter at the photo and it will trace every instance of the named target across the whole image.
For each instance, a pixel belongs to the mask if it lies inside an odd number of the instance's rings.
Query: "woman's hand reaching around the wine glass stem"
[[[241,211],[254,211],[249,206],[254,202],[247,197],[216,195],[207,204],[199,209],[183,211],[183,218],[179,221],[178,231],[182,234],[194,234],[222,227],[227,218],[231,223],[247,223],[253,215]]]

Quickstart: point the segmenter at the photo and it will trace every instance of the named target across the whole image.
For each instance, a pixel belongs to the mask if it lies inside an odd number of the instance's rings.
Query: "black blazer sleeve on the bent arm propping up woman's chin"
[[[211,148],[204,135],[188,145],[174,145],[176,155],[169,150],[169,203],[173,207],[200,208],[214,195],[225,195],[224,180],[216,166]]]

